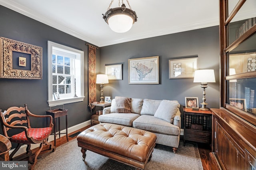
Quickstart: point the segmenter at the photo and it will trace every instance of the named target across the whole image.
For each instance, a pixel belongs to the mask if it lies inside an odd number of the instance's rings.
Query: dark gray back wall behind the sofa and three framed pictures
[[[197,55],[199,69],[214,69],[216,83],[208,84],[206,102],[210,108],[219,108],[219,53],[218,26],[101,47],[101,73],[105,64],[123,64],[123,80],[105,84],[104,96],[178,100],[183,106],[185,97],[198,97],[202,102],[199,83],[191,78],[169,79],[169,59]],[[128,84],[128,59],[150,56],[159,56],[159,84]]]

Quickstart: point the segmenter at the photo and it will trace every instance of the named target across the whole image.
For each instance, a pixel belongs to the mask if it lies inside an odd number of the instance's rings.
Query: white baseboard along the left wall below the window
[[[88,120],[88,121],[85,121],[85,122],[80,123],[80,124],[78,124],[78,125],[74,125],[74,126],[72,126],[72,127],[69,127],[69,128],[68,128],[68,133],[72,133],[72,132],[74,132],[74,131],[77,131],[77,130],[79,130],[79,129],[82,129],[82,128],[84,128],[84,127],[90,125],[90,124],[91,124],[91,123],[90,123],[90,120]],[[62,131],[60,131],[60,133],[66,133],[66,129],[63,129]],[[65,136],[65,135],[66,135],[66,134],[60,134],[60,137]],[[56,135],[56,139],[59,139],[59,135]],[[49,141],[49,142],[52,141],[52,142],[54,143],[54,135],[50,135],[50,137],[48,138],[48,141]],[[37,147],[39,147],[39,146],[40,146],[40,144],[32,144],[30,149],[35,149],[35,148],[37,148]],[[26,153],[26,147],[27,147],[27,145],[22,145],[22,146],[20,147],[20,149],[18,150],[18,152],[16,152],[16,154],[15,154],[13,157],[18,156],[18,155],[23,154],[23,153]],[[14,149],[12,149],[12,150],[9,151],[9,155],[13,152],[13,150],[14,150]]]

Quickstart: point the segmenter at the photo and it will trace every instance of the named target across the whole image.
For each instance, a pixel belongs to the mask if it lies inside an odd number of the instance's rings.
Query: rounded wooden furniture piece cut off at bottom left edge
[[[0,134],[0,160],[9,160],[9,150],[11,147],[12,143],[9,141],[9,139]]]

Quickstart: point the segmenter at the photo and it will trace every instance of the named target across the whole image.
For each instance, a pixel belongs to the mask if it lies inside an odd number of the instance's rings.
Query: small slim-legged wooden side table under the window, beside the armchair
[[[56,146],[56,135],[59,135],[59,138],[60,138],[60,134],[66,134],[66,138],[68,141],[68,110],[67,109],[53,109],[53,110],[46,111],[46,114],[51,115],[52,118],[54,119],[54,146]],[[60,133],[60,117],[62,117],[62,116],[66,116],[66,133]],[[58,123],[59,123],[57,134],[56,134],[56,118],[58,118]],[[46,120],[46,123],[48,125],[48,120]]]

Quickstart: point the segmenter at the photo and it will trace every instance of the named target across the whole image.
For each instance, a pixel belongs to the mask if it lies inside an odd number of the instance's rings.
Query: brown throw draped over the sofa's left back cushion
[[[116,113],[131,113],[130,98],[116,96]]]

